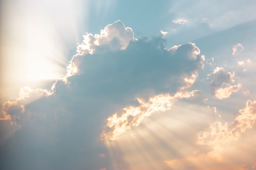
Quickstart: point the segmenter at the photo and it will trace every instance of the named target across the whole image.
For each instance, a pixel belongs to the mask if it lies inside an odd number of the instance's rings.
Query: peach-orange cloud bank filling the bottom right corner
[[[214,110],[217,114],[216,108]],[[256,130],[255,123],[256,101],[248,100],[233,122],[223,124],[221,121],[215,121],[206,131],[199,132],[198,148],[190,155],[165,162],[174,169],[215,170],[220,167],[222,169],[232,167],[234,170],[253,170],[255,135],[252,133]],[[249,130],[251,132],[248,132]],[[246,152],[249,148],[252,151]]]

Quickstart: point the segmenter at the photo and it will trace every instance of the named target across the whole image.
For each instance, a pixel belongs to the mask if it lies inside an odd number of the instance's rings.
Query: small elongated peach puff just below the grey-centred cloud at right
[[[229,98],[232,93],[238,92],[239,90],[242,90],[243,86],[242,84],[237,84],[234,86],[228,86],[225,88],[218,88],[215,91],[215,96],[217,99],[225,99]]]

